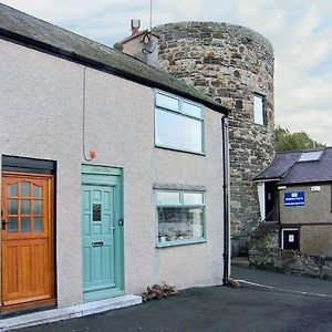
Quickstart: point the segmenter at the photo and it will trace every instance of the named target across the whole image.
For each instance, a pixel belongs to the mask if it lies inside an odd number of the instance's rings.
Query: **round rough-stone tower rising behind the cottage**
[[[273,49],[251,29],[214,22],[159,25],[159,64],[226,104],[230,141],[232,251],[247,248],[260,211],[252,177],[273,157]],[[253,95],[264,97],[266,124],[253,123]]]

